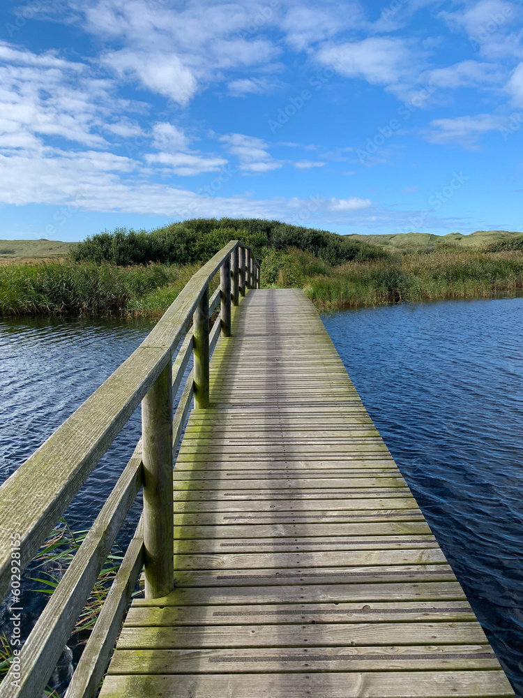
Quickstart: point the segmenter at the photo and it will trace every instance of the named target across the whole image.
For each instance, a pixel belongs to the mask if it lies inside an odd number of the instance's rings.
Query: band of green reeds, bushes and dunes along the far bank
[[[257,218],[195,218],[150,233],[103,232],[71,247],[68,260],[0,265],[0,316],[159,318],[230,239],[252,246],[262,285],[303,288],[320,309],[523,288],[517,233],[342,236]]]

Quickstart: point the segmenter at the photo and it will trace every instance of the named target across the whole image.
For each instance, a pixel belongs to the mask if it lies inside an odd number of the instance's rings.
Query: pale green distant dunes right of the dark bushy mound
[[[432,250],[441,244],[455,244],[463,247],[483,247],[493,242],[510,239],[522,235],[519,232],[508,230],[476,230],[470,235],[462,235],[460,232],[450,232],[448,235],[432,235],[429,232],[398,232],[396,235],[350,235],[357,240],[364,240],[378,245],[389,252],[409,250]]]

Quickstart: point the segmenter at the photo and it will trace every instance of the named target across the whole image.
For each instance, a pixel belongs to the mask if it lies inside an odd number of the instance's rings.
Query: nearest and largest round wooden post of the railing
[[[142,400],[142,448],[145,596],[156,599],[174,586],[170,361]]]

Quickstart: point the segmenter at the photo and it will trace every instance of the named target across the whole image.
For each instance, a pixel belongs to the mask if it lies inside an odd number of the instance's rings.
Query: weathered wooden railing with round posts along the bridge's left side
[[[209,285],[218,272],[220,285],[209,299]],[[18,587],[13,586],[13,574],[16,577],[31,562],[142,402],[142,438],[20,655],[3,678],[1,698],[42,695],[142,488],[142,517],[66,698],[96,695],[142,567],[146,597],[161,597],[172,591],[174,454],[193,396],[195,408],[209,406],[209,355],[220,332],[225,336],[231,333],[231,304],[238,305],[246,288],[259,288],[259,272],[251,248],[237,241],[229,242],[185,285],[126,362],[0,487],[0,597],[15,591],[16,600]],[[218,306],[220,314],[209,332],[210,318]],[[191,354],[194,368],[173,418],[173,396],[181,387]]]

